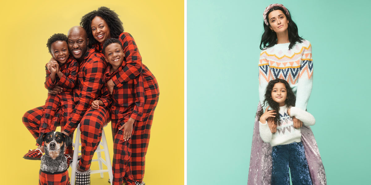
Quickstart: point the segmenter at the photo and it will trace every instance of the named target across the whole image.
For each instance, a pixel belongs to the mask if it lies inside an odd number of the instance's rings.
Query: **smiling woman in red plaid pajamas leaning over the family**
[[[125,60],[118,69],[119,72],[107,82],[107,88],[111,92],[122,87],[129,80],[133,80],[138,75],[143,75],[144,86],[144,110],[141,117],[130,118],[128,122],[135,124],[134,134],[131,137],[131,158],[128,165],[131,165],[131,173],[135,179],[135,184],[144,184],[145,155],[147,153],[150,139],[151,125],[159,96],[157,80],[151,71],[142,64],[142,57],[131,34],[124,32],[122,22],[113,10],[107,7],[99,7],[98,10],[91,11],[81,18],[80,25],[88,33],[89,43],[95,47],[96,51],[102,53],[102,46],[108,38],[118,38],[124,49]],[[119,130],[124,123],[112,125],[112,134]],[[116,141],[114,141],[116,142]],[[114,151],[116,149],[114,148]],[[117,158],[120,158],[117,156]],[[121,160],[121,159],[117,159]],[[122,184],[122,177],[126,173],[124,169],[115,168],[115,158],[113,160],[114,174],[121,174],[121,178],[114,178],[114,184]],[[115,175],[114,175],[115,176]],[[121,185],[120,184],[120,185]]]

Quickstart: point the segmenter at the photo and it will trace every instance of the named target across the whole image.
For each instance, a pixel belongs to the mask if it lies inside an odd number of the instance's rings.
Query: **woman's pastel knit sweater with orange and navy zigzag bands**
[[[312,46],[307,40],[296,43],[276,44],[262,50],[259,58],[259,99],[263,104],[266,87],[270,80],[280,78],[288,81],[296,95],[295,106],[306,110],[312,92],[313,61]],[[265,111],[267,105],[263,106]]]

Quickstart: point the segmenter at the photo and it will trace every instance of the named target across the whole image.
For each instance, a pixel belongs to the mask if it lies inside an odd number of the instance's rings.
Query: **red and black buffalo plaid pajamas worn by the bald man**
[[[78,85],[74,90],[76,106],[63,130],[72,134],[80,123],[81,159],[79,166],[88,170],[95,150],[102,137],[103,126],[109,122],[109,112],[104,107],[91,108],[93,100],[98,99],[103,86],[106,63],[104,56],[89,49],[79,66]]]

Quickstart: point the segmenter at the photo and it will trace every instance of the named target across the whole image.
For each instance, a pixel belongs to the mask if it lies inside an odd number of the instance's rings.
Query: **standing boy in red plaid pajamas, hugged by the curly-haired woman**
[[[124,50],[117,38],[109,38],[105,41],[102,53],[109,63],[104,74],[104,83],[123,70],[125,60]],[[92,108],[99,106],[108,107],[111,103],[112,138],[114,140],[114,157],[112,162],[112,184],[121,185],[123,181],[127,185],[135,185],[131,173],[131,139],[134,128],[144,108],[144,88],[142,74],[133,80],[129,80],[120,88],[115,87],[111,97],[106,87],[102,88],[102,98],[92,102]]]

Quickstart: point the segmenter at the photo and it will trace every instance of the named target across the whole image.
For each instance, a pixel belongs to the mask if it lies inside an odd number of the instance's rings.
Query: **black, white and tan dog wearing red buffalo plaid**
[[[36,139],[37,144],[44,142],[45,155],[41,157],[39,185],[70,185],[66,146],[72,139],[61,132],[47,132]]]

